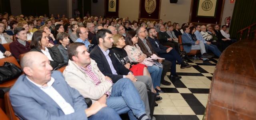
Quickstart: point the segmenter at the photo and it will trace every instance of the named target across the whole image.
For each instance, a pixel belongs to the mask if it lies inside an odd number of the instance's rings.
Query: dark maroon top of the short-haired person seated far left
[[[20,44],[20,42],[18,42],[18,40],[15,40],[14,42],[12,42],[9,45],[10,52],[16,59],[19,59],[20,54],[24,54],[24,53],[30,51],[29,45],[30,45],[30,43],[28,41],[26,41],[26,46],[24,46],[24,45]]]

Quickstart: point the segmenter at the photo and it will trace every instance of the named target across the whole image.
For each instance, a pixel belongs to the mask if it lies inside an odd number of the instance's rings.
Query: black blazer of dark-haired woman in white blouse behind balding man
[[[48,48],[49,50],[49,53],[50,53],[50,56],[52,57],[52,60],[54,61],[51,61],[50,60],[50,64],[52,66],[52,68],[56,68],[59,64],[62,64],[63,63],[63,56],[62,54],[60,53],[60,50],[57,46],[53,46],[52,48]],[[41,52],[43,53],[40,48],[33,48],[31,49],[30,51],[38,51],[38,52]]]

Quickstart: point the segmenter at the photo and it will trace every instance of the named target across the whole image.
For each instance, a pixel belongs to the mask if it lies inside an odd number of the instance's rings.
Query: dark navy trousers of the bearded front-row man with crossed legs
[[[176,61],[178,61],[178,64],[182,63],[182,59],[180,58],[179,54],[172,49],[170,52],[168,53],[162,53],[162,54],[158,54],[161,58],[165,58],[165,60],[168,60],[170,62],[172,62],[172,66],[171,66],[171,75],[176,76]]]

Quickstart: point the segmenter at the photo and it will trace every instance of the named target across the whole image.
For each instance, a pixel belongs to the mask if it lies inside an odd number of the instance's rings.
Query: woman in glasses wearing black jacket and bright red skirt
[[[131,70],[134,74],[134,76],[149,76],[151,78],[151,75],[147,69],[147,66],[144,64],[140,64],[138,62],[130,62],[130,59],[128,57],[128,54],[126,50],[124,50],[124,46],[126,46],[125,39],[121,34],[116,34],[113,36],[113,52],[115,57],[118,59],[118,61],[123,64],[127,69]],[[154,93],[157,93],[156,90],[154,90],[152,84],[148,84],[148,86],[151,87],[151,91]],[[158,94],[159,95],[159,94]],[[160,96],[157,98],[158,100],[161,99]]]

